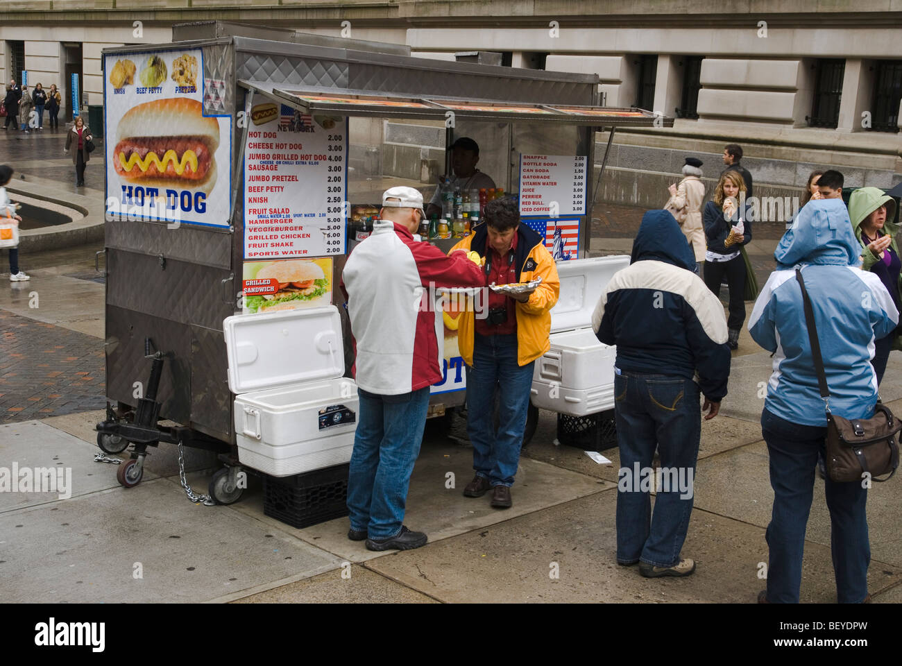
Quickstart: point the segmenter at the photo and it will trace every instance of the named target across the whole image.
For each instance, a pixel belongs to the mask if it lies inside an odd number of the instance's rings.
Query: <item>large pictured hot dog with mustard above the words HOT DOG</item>
[[[139,104],[119,121],[115,172],[145,187],[201,190],[216,184],[219,122],[204,117],[196,99],[173,97]]]

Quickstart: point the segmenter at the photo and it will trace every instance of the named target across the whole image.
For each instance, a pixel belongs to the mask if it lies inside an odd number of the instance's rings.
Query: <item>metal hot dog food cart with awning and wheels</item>
[[[327,234],[323,227],[331,259],[326,265],[332,271],[327,279],[336,305],[342,296],[335,285],[351,245],[350,207],[378,206],[382,190],[392,185],[418,188],[428,200],[437,175],[450,172],[446,147],[456,137],[472,137],[482,146],[480,168],[505,192],[520,191],[523,155],[571,156],[577,167],[582,164],[582,177],[578,169],[574,176],[582,196],[566,202],[569,213],[561,215],[572,224],[564,234],[568,249],[561,249],[581,258],[588,255],[596,191],[596,130],[610,128],[610,146],[617,126],[673,123],[640,109],[596,106],[599,81],[594,75],[428,60],[410,57],[409,48],[396,44],[235,23],[177,25],[173,43],[105,49],[103,58],[108,406],[106,421],[97,426],[97,442],[110,453],[134,445],[132,459],[118,473],[124,486],[140,482],[147,446],[163,441],[215,450],[226,467],[216,473],[211,491],[225,502],[235,501],[240,492],[235,492],[235,394],[228,384],[223,321],[246,307],[245,188],[251,159],[246,146],[254,145],[248,143],[248,133],[258,116],[284,116],[286,123],[299,125],[298,131],[305,130],[310,118],[323,127],[339,119],[346,123],[345,161],[343,170],[336,171],[344,178],[328,208],[333,215],[337,197],[343,199],[341,228],[330,227]],[[150,168],[150,156],[142,162],[148,146],[161,146],[157,153],[166,147],[159,136],[166,132],[158,128],[156,143],[145,141],[144,152],[133,160],[114,153],[128,142],[141,143],[137,134],[142,127],[169,122],[159,114],[127,116],[135,106],[152,106],[138,105],[144,98],[163,97],[169,90],[172,99],[189,98],[184,108],[198,108],[197,117],[175,123],[192,128],[181,139],[200,142],[201,134],[216,134],[216,142],[205,139],[195,151],[202,161],[206,146],[210,159],[218,162],[216,176],[210,176],[215,185],[151,189],[146,183],[152,181],[140,180],[140,173],[122,171],[130,168],[125,162]],[[254,111],[262,104],[275,110]],[[322,125],[324,117],[329,125]],[[136,129],[123,138],[126,125]],[[170,134],[179,131],[171,128]],[[340,143],[335,145],[340,150]],[[166,164],[164,156],[158,168],[169,168]],[[179,169],[174,153],[172,167]],[[145,195],[165,201],[179,219],[162,215],[162,208],[156,215],[146,208],[131,217],[123,214],[129,204],[145,206]],[[538,222],[546,225],[551,247],[548,225],[553,222],[557,228],[557,210],[549,212]],[[560,245],[559,229],[557,236]],[[439,240],[437,245],[447,250],[455,242]],[[444,385],[435,389],[430,415],[448,413],[464,402],[462,366],[459,357],[446,358]],[[163,426],[162,420],[179,425]]]

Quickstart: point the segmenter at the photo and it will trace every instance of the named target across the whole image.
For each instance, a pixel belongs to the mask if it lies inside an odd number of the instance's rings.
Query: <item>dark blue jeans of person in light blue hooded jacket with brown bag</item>
[[[805,526],[815,494],[815,460],[817,452],[824,449],[827,429],[797,425],[765,409],[761,412],[761,431],[768,443],[770,486],[774,489],[766,535],[770,550],[768,601],[797,604]],[[868,596],[868,491],[858,482],[836,483],[828,477],[824,483],[836,599],[841,604],[858,604]]]

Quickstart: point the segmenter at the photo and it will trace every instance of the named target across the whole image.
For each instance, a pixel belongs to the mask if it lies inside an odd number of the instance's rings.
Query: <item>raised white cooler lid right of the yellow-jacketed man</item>
[[[630,265],[628,254],[571,259],[557,264],[560,296],[551,309],[551,332],[592,325],[592,313],[614,273]]]

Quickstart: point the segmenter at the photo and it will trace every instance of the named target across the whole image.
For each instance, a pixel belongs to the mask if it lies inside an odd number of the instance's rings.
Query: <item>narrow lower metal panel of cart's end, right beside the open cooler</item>
[[[221,329],[191,326],[191,423],[231,441],[233,396],[228,388],[226,338]]]

